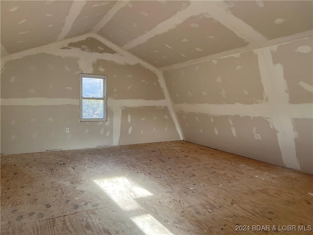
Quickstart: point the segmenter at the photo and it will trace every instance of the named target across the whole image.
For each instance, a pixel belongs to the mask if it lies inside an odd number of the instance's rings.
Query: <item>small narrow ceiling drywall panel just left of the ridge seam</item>
[[[116,1],[87,1],[73,22],[66,38],[89,33],[114,6]]]

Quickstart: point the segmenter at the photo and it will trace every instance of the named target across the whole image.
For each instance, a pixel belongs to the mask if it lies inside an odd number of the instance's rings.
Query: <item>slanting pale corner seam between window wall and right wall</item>
[[[163,93],[164,93],[164,96],[165,96],[165,99],[167,101],[167,107],[168,107],[168,110],[169,110],[169,113],[174,121],[174,124],[175,124],[175,127],[176,127],[176,131],[178,132],[179,134],[179,139],[182,141],[184,139],[184,136],[183,136],[183,133],[182,133],[182,130],[181,130],[181,126],[180,126],[180,123],[179,123],[179,120],[177,118],[177,115],[176,115],[176,112],[174,111],[174,108],[173,108],[173,102],[172,102],[172,99],[171,99],[171,96],[168,92],[168,89],[167,89],[167,86],[166,86],[166,83],[165,83],[165,80],[164,80],[164,76],[163,76],[163,73],[162,72],[157,72],[156,73],[157,77],[158,77],[158,82],[163,90]]]

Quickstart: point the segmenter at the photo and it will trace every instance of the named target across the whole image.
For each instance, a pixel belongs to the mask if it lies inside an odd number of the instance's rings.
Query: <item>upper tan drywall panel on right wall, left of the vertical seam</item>
[[[258,58],[252,51],[164,71],[164,75],[171,77],[166,85],[174,103],[254,104],[263,100]]]

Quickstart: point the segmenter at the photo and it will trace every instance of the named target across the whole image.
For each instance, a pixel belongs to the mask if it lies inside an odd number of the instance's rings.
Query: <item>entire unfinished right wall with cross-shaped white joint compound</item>
[[[313,174],[312,58],[310,37],[163,71],[184,139]]]

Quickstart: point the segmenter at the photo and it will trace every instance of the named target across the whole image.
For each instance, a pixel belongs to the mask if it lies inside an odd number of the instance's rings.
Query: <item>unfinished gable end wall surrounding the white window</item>
[[[180,139],[159,72],[102,40],[90,34],[1,58],[1,154]],[[80,122],[80,73],[107,75],[107,121]]]

